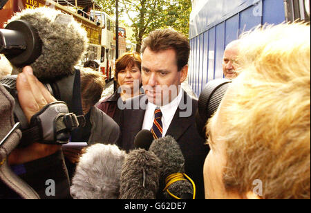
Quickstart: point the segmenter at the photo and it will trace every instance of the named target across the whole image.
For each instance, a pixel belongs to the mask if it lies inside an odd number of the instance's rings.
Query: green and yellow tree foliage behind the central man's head
[[[115,0],[94,0],[109,15],[115,13]],[[191,0],[119,0],[119,16],[133,23],[137,49],[142,39],[158,28],[173,28],[188,37]]]

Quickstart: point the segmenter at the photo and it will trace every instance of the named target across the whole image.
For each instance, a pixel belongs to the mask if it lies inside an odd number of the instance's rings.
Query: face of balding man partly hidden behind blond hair
[[[236,57],[238,51],[235,46],[229,47],[223,53],[223,74],[225,78],[234,79],[238,74],[236,73]]]

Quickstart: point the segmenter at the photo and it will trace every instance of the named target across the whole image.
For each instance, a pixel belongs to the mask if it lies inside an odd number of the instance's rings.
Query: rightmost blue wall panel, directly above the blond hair
[[[263,24],[281,24],[283,21],[285,21],[283,0],[263,1]]]

